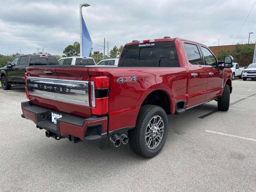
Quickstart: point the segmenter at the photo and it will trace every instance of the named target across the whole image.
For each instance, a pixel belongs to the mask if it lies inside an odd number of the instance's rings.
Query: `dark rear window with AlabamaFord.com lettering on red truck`
[[[122,67],[179,67],[174,42],[134,44],[124,47]]]

